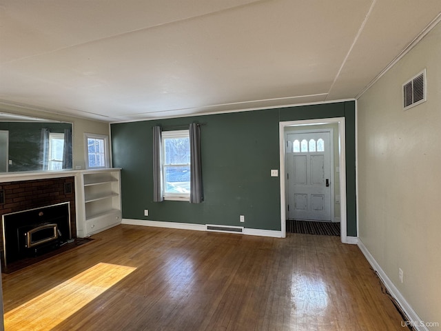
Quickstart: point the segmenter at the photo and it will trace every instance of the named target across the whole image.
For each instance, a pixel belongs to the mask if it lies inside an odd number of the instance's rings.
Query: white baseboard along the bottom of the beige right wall
[[[409,302],[407,302],[406,299],[404,299],[403,295],[400,293],[398,288],[396,288],[395,285],[393,285],[393,282],[389,277],[387,277],[386,272],[382,270],[376,259],[373,258],[372,254],[369,252],[369,250],[366,248],[365,244],[361,241],[361,239],[358,239],[358,248],[362,251],[362,253],[365,255],[367,261],[372,266],[373,270],[376,270],[378,272],[378,276],[384,283],[384,286],[386,286],[387,290],[390,292],[392,297],[398,301],[400,304],[402,310],[407,315],[407,318],[410,320],[411,325],[416,328],[416,330],[420,331],[429,331],[429,329],[424,325],[424,322],[422,319],[418,316],[415,310],[411,307]]]

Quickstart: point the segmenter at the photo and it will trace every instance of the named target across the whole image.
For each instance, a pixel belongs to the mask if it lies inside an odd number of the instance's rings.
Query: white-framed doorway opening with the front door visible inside
[[[280,122],[280,215],[282,237],[287,219],[340,221],[347,243],[344,117]]]

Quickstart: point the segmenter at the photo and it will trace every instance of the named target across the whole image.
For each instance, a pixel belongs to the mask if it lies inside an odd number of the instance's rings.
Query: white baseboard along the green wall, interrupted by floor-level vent
[[[147,220],[143,220],[143,219],[123,219],[121,221],[121,224],[154,226],[156,228],[207,231],[207,226],[205,224],[147,221]],[[282,238],[282,232],[281,231],[274,231],[274,230],[260,230],[260,229],[244,228],[242,234],[246,234],[249,236]]]

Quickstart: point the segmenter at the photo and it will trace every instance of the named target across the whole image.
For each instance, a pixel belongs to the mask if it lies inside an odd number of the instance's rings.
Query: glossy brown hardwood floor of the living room
[[[339,237],[119,225],[94,238],[2,275],[6,331],[404,329]]]

